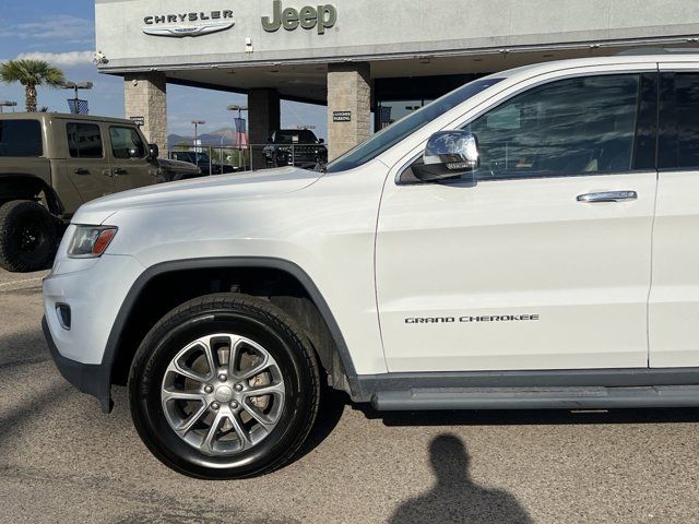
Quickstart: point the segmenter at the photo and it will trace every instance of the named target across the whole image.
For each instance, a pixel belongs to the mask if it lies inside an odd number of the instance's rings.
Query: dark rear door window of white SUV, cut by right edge
[[[661,78],[660,168],[699,167],[699,73]]]

